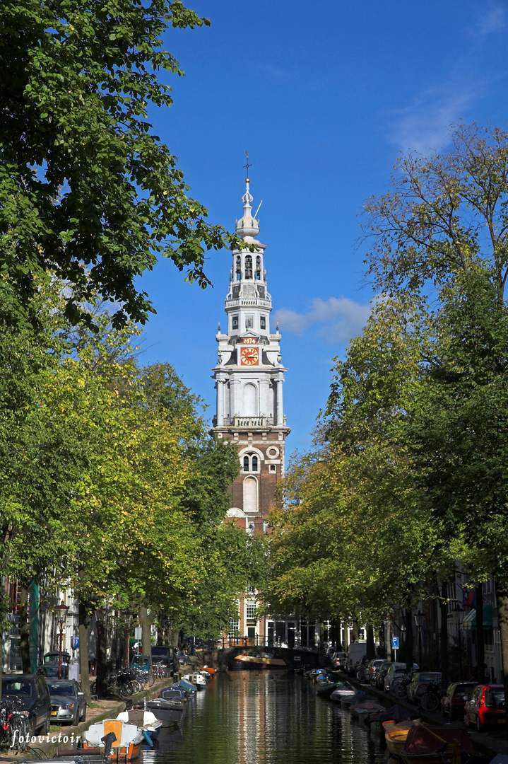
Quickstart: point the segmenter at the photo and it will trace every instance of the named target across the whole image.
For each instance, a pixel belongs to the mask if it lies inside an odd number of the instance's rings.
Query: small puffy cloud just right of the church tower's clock
[[[296,335],[304,334],[310,326],[317,326],[318,334],[326,342],[336,344],[349,342],[361,334],[370,313],[371,305],[355,303],[348,297],[315,297],[307,312],[280,308],[275,311],[273,320],[278,322],[282,332]]]

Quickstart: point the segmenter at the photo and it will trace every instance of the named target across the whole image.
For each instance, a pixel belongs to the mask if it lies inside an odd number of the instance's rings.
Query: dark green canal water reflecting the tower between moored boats
[[[286,672],[215,675],[142,764],[387,764],[380,737]]]

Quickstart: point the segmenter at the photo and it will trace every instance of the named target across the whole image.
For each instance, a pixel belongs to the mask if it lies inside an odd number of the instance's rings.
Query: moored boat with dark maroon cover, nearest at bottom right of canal
[[[407,733],[399,755],[404,764],[461,764],[461,753],[473,753],[465,730],[418,724]]]

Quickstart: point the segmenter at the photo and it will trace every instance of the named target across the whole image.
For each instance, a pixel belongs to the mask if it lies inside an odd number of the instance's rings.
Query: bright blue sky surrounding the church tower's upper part
[[[242,212],[245,150],[268,289],[288,367],[288,453],[305,450],[326,404],[330,368],[362,331],[362,205],[390,183],[397,154],[445,147],[450,123],[508,127],[508,2],[195,0],[211,28],[175,30],[166,46],[185,77],[154,130],[178,157],[210,222]],[[214,288],[160,261],[139,286],[157,315],[141,360],[169,361],[210,404],[215,332],[230,253],[209,255]]]

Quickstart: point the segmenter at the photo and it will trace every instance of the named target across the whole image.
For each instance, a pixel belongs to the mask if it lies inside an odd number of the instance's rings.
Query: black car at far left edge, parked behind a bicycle
[[[11,674],[2,676],[2,698],[20,698],[21,710],[27,711],[28,730],[50,731],[51,700],[46,679],[42,674]]]

